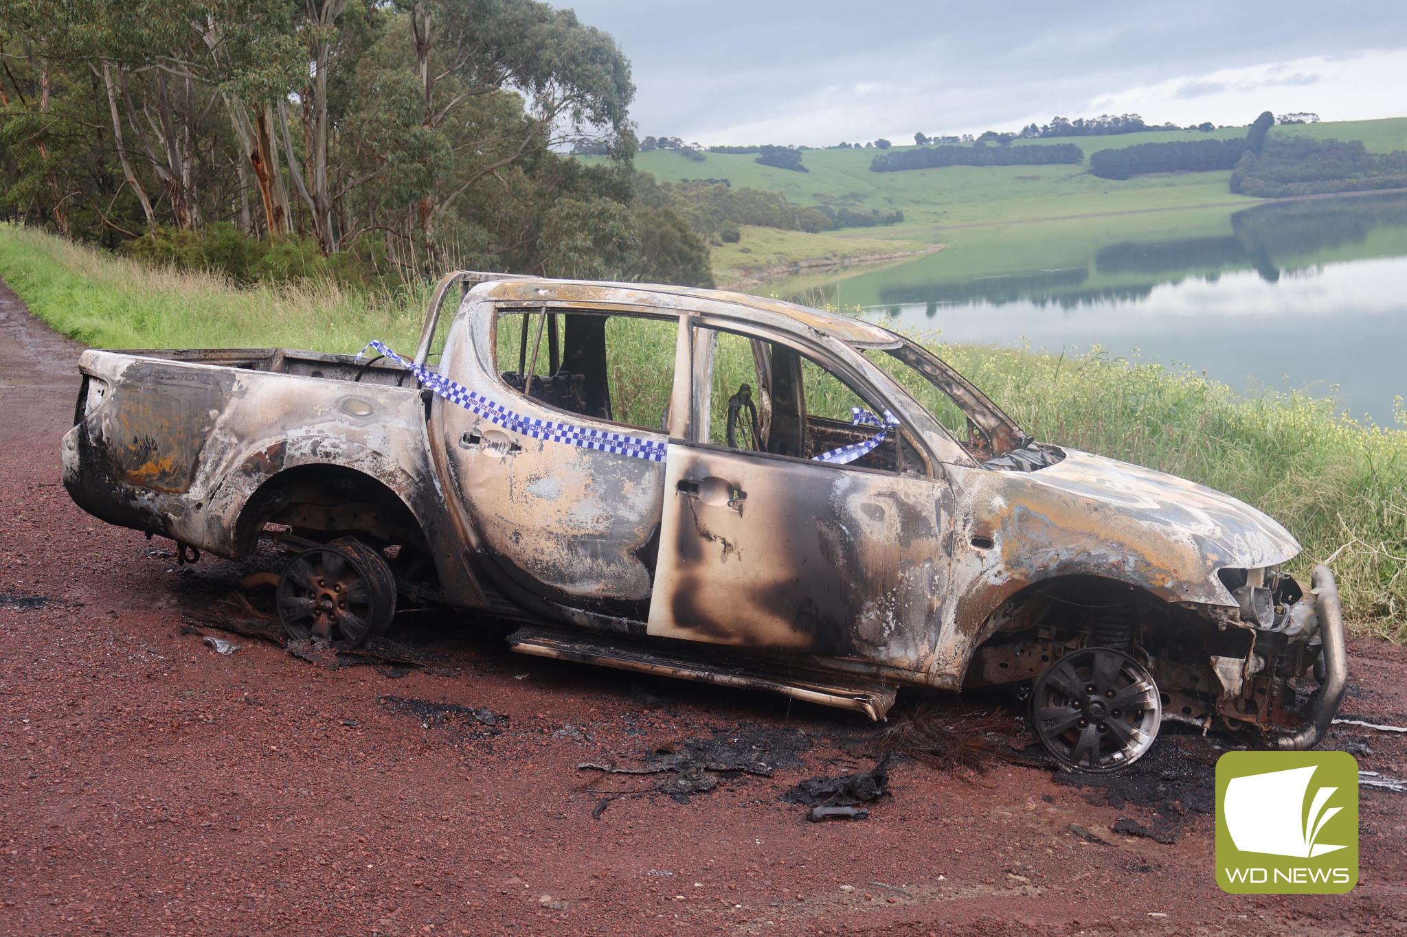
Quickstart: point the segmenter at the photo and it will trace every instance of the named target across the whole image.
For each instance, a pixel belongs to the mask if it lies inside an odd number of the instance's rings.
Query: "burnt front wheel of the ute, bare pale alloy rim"
[[[1152,674],[1137,660],[1109,648],[1085,648],[1036,681],[1031,722],[1061,764],[1117,771],[1152,747],[1162,704]]]

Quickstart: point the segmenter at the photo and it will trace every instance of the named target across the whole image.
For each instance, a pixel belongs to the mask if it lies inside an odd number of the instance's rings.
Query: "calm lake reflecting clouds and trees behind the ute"
[[[1407,396],[1407,197],[938,230],[944,250],[757,292],[943,341],[1106,351],[1394,421]]]

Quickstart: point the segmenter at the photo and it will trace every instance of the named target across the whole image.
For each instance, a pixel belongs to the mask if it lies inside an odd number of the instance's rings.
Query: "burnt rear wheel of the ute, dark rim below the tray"
[[[294,641],[356,648],[386,634],[395,615],[395,577],[386,559],[343,537],[303,551],[279,576],[279,620]]]

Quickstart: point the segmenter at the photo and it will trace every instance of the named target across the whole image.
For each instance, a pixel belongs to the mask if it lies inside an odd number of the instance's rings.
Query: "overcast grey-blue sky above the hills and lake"
[[[630,58],[632,117],[685,142],[805,143],[1017,129],[1407,115],[1401,0],[559,0]]]

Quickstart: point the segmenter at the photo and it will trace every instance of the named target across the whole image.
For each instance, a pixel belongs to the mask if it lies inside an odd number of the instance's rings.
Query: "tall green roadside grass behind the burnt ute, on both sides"
[[[409,348],[424,309],[424,296],[324,285],[234,289],[13,226],[0,226],[0,278],[55,329],[100,347],[355,351],[383,337]],[[511,347],[512,337],[502,340]],[[612,393],[629,419],[654,426],[673,343],[640,330],[618,337],[630,344],[611,362]],[[1362,426],[1311,395],[1245,398],[1097,350],[1055,357],[919,337],[1037,437],[1190,478],[1269,513],[1304,545],[1296,575],[1331,558],[1356,634],[1407,639],[1407,433]],[[720,350],[719,393],[747,379],[744,346]]]

